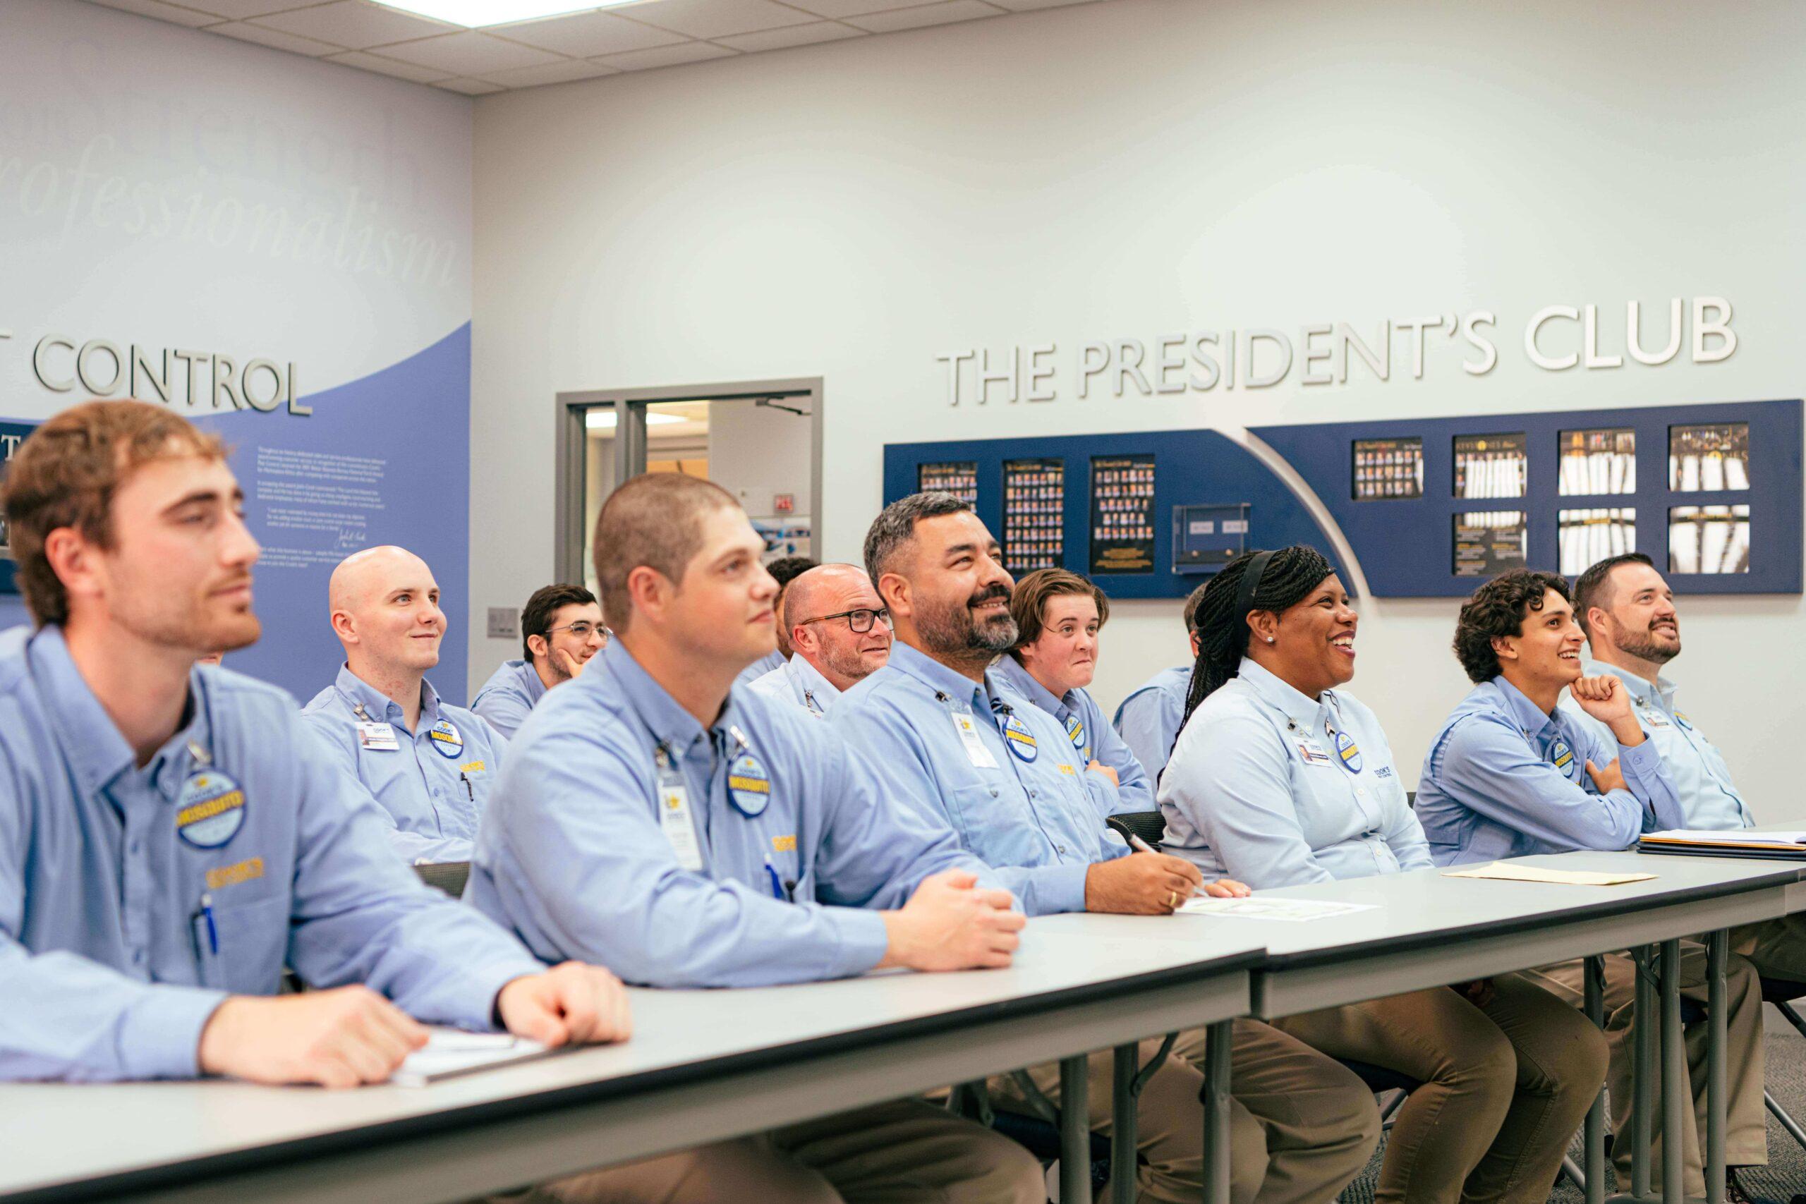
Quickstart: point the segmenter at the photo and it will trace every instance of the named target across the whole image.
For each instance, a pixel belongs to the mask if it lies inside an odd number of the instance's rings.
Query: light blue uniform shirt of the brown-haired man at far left
[[[285,964],[488,1029],[542,966],[396,861],[294,699],[211,666],[188,699],[139,769],[60,628],[0,635],[0,1079],[193,1078],[213,1009]]]

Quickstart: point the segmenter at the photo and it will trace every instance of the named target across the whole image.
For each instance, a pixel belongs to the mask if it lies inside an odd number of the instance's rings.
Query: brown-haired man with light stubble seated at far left
[[[14,453],[5,513],[36,623],[0,635],[0,1079],[356,1087],[419,1022],[560,1043],[628,1036],[596,966],[547,971],[390,854],[294,700],[229,670],[256,540],[219,439],[88,403]],[[278,996],[284,966],[309,991]],[[715,1152],[529,1193],[684,1200]]]

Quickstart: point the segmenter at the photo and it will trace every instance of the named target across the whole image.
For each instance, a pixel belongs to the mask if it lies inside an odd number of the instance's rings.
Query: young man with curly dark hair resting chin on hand
[[[1416,812],[1438,865],[1629,848],[1642,832],[1685,827],[1674,780],[1638,722],[1629,688],[1613,673],[1589,675],[1582,643],[1568,581],[1553,572],[1515,569],[1481,585],[1461,607],[1454,650],[1474,690],[1436,733],[1418,780]],[[1564,688],[1571,704],[1557,706]],[[1577,1005],[1582,1000],[1578,960],[1526,977]],[[1634,984],[1629,957],[1606,959],[1606,1085],[1620,1134],[1631,1116]],[[1705,1002],[1705,948],[1696,942],[1681,946],[1681,991]],[[1737,1166],[1764,1164],[1763,998],[1755,971],[1736,955],[1728,998],[1727,1157]],[[1694,1110],[1681,1134],[1687,1195],[1705,1193],[1705,1027],[1687,1033],[1694,1083]],[[1654,1123],[1660,1130],[1662,1117]],[[1616,1148],[1620,1182],[1629,1153],[1629,1143]]]

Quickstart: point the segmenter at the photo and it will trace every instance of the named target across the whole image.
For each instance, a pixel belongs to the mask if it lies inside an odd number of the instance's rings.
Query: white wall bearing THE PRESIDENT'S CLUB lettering
[[[1802,69],[1797,4],[1111,0],[482,97],[471,507],[545,536],[479,540],[473,601],[549,578],[558,390],[822,375],[849,560],[885,442],[1799,395]],[[1546,303],[1694,294],[1736,305],[1725,363],[1544,374],[1515,347]],[[1432,343],[1421,381],[954,410],[934,361],[1470,307],[1501,314],[1483,377]],[[1105,702],[1183,655],[1176,610],[1116,610]],[[1465,690],[1454,610],[1364,608],[1354,690],[1412,780]],[[1687,708],[1764,820],[1806,812],[1799,619],[1683,601]]]

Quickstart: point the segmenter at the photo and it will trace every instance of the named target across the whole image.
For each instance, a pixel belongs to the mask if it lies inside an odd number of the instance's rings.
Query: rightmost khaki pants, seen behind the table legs
[[[1792,919],[1792,917],[1788,917]],[[1766,924],[1759,926],[1766,928]],[[1736,942],[1732,933],[1732,940]],[[1524,978],[1541,982],[1575,1007],[1584,1002],[1586,978],[1582,962],[1560,962],[1526,969]],[[1705,946],[1681,942],[1681,995],[1703,1004]],[[1725,998],[1730,1014],[1725,1016],[1725,1161],[1732,1166],[1763,1166],[1768,1162],[1768,1121],[1763,1117],[1763,991],[1752,968],[1741,957],[1730,957],[1725,966]],[[1611,1045],[1611,1132],[1613,1162],[1618,1182],[1631,1182],[1631,1020],[1636,1014],[1636,964],[1624,953],[1606,959],[1606,1040]],[[1692,1103],[1681,1132],[1681,1170],[1685,1195],[1705,1195],[1705,1162],[1699,1157],[1699,1134],[1705,1130],[1705,1054],[1707,1025],[1687,1029],[1687,1076],[1692,1079]],[[1658,1054],[1660,1058],[1660,1054]],[[1658,1096],[1660,1097],[1660,1096]],[[1662,1190],[1662,1105],[1651,1117],[1649,1182]]]

